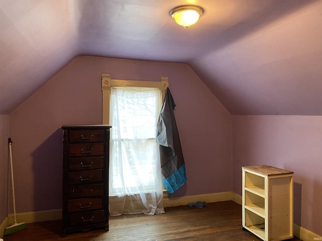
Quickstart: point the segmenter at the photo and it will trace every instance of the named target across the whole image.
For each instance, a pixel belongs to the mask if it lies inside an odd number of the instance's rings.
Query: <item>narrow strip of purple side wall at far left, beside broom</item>
[[[8,215],[8,138],[9,114],[0,115],[0,224]]]

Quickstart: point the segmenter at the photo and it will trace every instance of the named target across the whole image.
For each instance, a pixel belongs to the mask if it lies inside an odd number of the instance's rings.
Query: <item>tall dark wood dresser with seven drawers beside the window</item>
[[[62,126],[63,232],[109,229],[109,140],[107,125]]]

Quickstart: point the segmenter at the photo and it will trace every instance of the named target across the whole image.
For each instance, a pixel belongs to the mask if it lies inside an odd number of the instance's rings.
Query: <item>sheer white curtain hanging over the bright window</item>
[[[111,88],[109,204],[112,216],[164,212],[156,122],[161,93]]]

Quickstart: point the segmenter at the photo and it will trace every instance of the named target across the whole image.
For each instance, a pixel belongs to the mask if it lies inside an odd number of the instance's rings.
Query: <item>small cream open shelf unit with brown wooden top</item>
[[[268,165],[242,167],[243,228],[265,241],[293,237],[293,172]]]

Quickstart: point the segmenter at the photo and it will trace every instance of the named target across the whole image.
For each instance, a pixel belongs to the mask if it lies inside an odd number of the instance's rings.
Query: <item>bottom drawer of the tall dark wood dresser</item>
[[[74,212],[69,214],[69,225],[86,225],[97,222],[105,222],[105,211]]]

